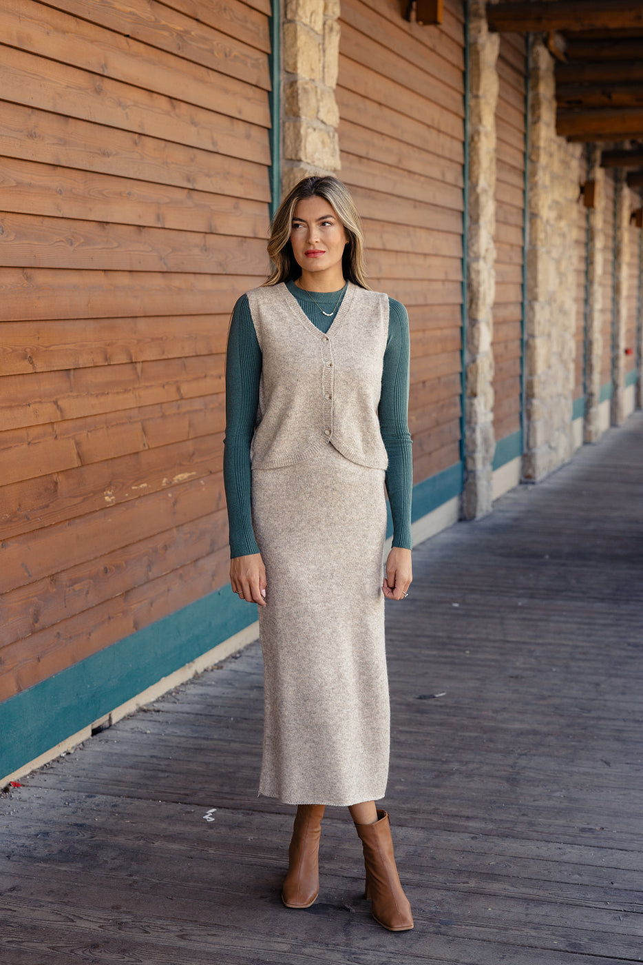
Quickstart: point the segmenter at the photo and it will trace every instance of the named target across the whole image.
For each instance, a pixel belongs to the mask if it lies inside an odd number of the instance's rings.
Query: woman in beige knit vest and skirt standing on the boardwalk
[[[368,289],[359,215],[335,178],[290,191],[268,254],[272,274],[232,313],[224,462],[230,582],[258,604],[259,793],[298,806],[288,908],[317,897],[324,808],[348,805],[373,917],[404,931],[411,908],[375,801],[388,778],[384,598],[412,580],[408,316]]]

